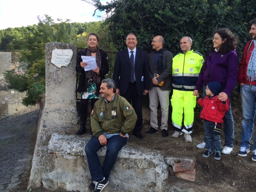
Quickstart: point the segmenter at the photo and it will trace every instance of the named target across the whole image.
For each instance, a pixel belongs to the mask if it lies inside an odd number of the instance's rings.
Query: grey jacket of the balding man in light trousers
[[[170,51],[164,51],[163,53],[164,58],[164,71],[162,73],[159,72],[158,68],[155,66],[154,62],[154,51],[148,54],[149,60],[149,70],[150,70],[150,82],[152,78],[154,78],[154,73],[160,75],[158,78],[158,82],[162,82],[164,80],[163,86],[158,86],[161,90],[171,90],[172,89],[172,53]],[[153,84],[151,83],[150,89],[152,88]]]

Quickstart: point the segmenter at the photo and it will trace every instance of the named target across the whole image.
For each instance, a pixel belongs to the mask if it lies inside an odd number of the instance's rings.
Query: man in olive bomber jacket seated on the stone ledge
[[[134,129],[137,120],[137,115],[129,102],[116,94],[114,80],[102,80],[100,93],[102,98],[95,103],[91,112],[94,136],[85,146],[92,177],[89,189],[94,192],[101,192],[107,186],[118,152],[126,145],[128,133]],[[97,151],[105,145],[107,150],[102,166]]]

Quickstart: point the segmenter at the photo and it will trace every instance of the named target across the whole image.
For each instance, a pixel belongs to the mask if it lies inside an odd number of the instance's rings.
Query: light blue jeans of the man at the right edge
[[[240,147],[250,148],[256,114],[256,86],[245,84],[240,87],[240,94],[243,114]],[[256,150],[256,136],[254,138],[253,150]]]

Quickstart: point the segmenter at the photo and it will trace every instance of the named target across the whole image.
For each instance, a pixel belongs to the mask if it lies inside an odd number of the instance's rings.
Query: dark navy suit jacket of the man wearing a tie
[[[116,88],[120,90],[120,94],[125,94],[128,89],[130,82],[130,73],[131,63],[128,49],[118,51],[116,54],[113,80],[116,83]],[[150,80],[148,54],[146,51],[140,50],[138,48],[136,48],[134,73],[136,77],[137,92],[138,95],[141,96],[143,95],[144,90],[150,89]],[[143,81],[142,76],[144,76]]]

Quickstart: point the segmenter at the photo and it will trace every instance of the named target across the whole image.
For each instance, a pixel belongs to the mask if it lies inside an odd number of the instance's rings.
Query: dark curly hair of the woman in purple
[[[232,31],[227,28],[217,29],[214,34],[218,33],[222,39],[226,39],[226,41],[222,44],[220,50],[218,52],[225,54],[236,48],[238,44],[238,37],[235,36]],[[215,48],[212,46],[211,51],[214,51]]]

